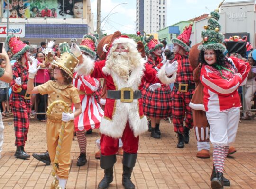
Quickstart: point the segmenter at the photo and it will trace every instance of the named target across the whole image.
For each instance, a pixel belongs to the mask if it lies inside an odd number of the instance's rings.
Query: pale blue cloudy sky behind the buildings
[[[198,17],[204,13],[209,14],[217,8],[221,1],[165,0],[167,2],[167,26]],[[237,1],[248,0],[225,0],[225,2]],[[125,2],[127,4],[118,5]],[[114,8],[116,5],[118,6]],[[91,0],[91,9],[94,13],[96,30],[97,0]],[[101,20],[108,14],[109,16],[101,23],[101,29],[105,30],[103,33],[113,34],[115,31],[120,30],[122,33],[136,34],[136,0],[101,0]]]

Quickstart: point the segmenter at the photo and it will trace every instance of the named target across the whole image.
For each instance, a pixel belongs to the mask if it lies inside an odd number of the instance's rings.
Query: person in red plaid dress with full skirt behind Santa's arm
[[[148,58],[148,64],[157,71],[166,63],[166,58],[162,59],[162,43],[158,43],[153,35],[144,37],[145,52]],[[151,137],[160,138],[161,132],[159,124],[161,118],[168,118],[172,113],[172,96],[169,85],[161,83],[145,82],[142,90],[143,111],[151,122]]]

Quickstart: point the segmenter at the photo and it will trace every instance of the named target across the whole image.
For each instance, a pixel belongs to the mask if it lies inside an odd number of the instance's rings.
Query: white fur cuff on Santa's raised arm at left
[[[87,76],[91,74],[91,71],[94,68],[95,62],[88,56],[82,55],[83,57],[83,63],[78,64],[78,66],[74,69],[75,72],[77,72],[79,75]]]

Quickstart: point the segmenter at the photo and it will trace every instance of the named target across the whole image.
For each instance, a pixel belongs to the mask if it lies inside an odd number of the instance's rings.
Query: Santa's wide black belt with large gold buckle
[[[121,90],[107,90],[107,98],[120,99],[121,102],[131,103],[133,99],[142,98],[141,91],[133,91],[131,88],[122,88]]]

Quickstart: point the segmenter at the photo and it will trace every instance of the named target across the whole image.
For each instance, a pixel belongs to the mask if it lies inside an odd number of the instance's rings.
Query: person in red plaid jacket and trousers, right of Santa
[[[186,26],[183,33],[176,39],[172,39],[174,44],[175,58],[178,61],[178,71],[176,83],[172,91],[172,115],[174,123],[174,131],[178,133],[177,148],[183,148],[184,142],[189,142],[189,130],[193,128],[192,109],[189,103],[192,99],[195,89],[193,80],[193,68],[189,63],[188,52],[189,38],[191,35],[193,23]],[[186,116],[186,124],[183,127],[183,120]]]

